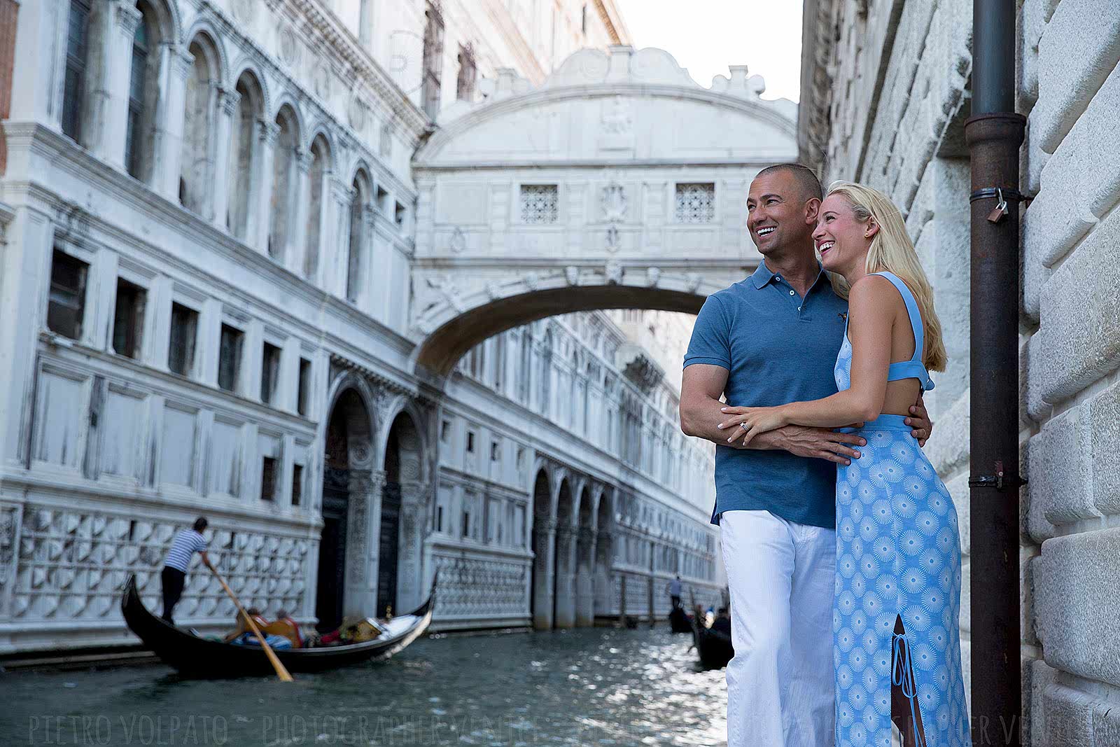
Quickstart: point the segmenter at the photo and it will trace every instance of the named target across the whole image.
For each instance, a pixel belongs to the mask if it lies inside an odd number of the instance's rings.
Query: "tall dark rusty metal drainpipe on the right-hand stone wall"
[[[1019,634],[1019,147],[1016,4],[973,0],[971,611],[976,745],[1021,744]],[[1002,209],[1001,209],[1002,208]]]

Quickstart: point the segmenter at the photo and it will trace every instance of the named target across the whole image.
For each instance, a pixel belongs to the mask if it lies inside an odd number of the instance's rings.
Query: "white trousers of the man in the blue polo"
[[[831,746],[836,532],[768,511],[726,511],[719,526],[735,646],[728,747]]]

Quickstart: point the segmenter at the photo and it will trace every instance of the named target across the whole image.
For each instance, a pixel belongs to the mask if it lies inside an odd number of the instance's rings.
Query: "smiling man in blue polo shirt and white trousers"
[[[728,445],[729,405],[834,394],[847,302],[816,261],[816,176],[797,164],[750,184],[747,228],[763,255],[749,278],[713,293],[697,317],[681,384],[681,430],[716,449],[716,507],[731,595],[728,747],[818,747],[833,740],[832,592],[836,467],[864,440],[787,426]],[[924,443],[921,399],[907,424]],[[762,440],[759,440],[762,439]],[[855,448],[853,448],[855,447]]]

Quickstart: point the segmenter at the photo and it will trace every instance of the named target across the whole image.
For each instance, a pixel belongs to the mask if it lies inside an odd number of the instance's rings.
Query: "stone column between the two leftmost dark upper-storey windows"
[[[112,0],[106,34],[101,45],[104,65],[96,105],[102,130],[95,133],[94,152],[110,166],[124,169],[124,141],[128,133],[129,85],[132,78],[132,39],[142,15],[134,4]]]

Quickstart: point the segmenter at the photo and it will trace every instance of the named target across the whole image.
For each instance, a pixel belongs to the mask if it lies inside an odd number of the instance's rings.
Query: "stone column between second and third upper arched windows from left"
[[[152,184],[164,197],[179,202],[183,175],[183,125],[186,120],[187,76],[195,56],[185,48],[162,44],[160,54],[159,110],[156,112],[156,166]],[[221,119],[221,118],[220,118]]]

